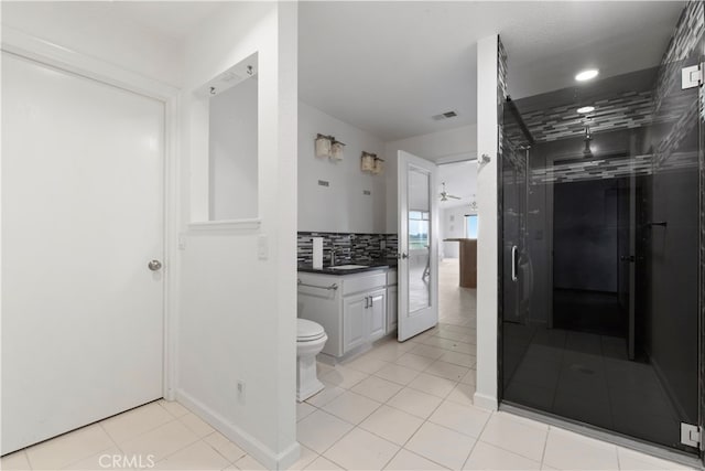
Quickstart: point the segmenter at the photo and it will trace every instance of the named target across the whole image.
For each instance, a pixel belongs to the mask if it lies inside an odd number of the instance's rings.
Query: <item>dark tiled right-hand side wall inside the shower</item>
[[[653,183],[650,189],[652,214],[665,214],[669,218],[668,237],[680,238],[677,238],[677,246],[675,244],[659,246],[658,258],[653,257],[649,267],[650,276],[658,280],[649,287],[653,309],[669,314],[668,318],[651,317],[653,331],[668,331],[668,338],[652,336],[649,355],[652,363],[658,365],[655,372],[665,386],[666,395],[675,405],[680,421],[691,424],[698,424],[698,411],[694,404],[698,402],[703,404],[705,397],[698,395],[697,388],[688,386],[688,383],[692,383],[692,372],[701,368],[698,382],[703,384],[702,368],[705,350],[702,338],[701,345],[679,341],[687,339],[698,324],[701,329],[704,325],[702,317],[698,320],[691,313],[699,309],[702,315],[705,306],[703,287],[705,275],[703,148],[705,142],[699,131],[703,127],[703,115],[702,103],[698,104],[698,99],[702,100],[703,90],[697,88],[681,90],[680,81],[681,67],[702,61],[704,33],[703,2],[690,1],[681,13],[659,69],[653,98],[654,120],[659,121],[661,116],[669,114],[675,114],[676,117],[666,120],[670,125],[669,133],[661,138],[661,142],[653,150]],[[679,157],[683,161],[683,167],[687,164],[687,169],[673,171],[679,170],[672,165]],[[671,200],[674,194],[677,196]],[[697,194],[699,196],[696,196]],[[693,231],[695,217],[699,218],[699,234]],[[687,223],[684,224],[683,221]],[[665,239],[665,234],[662,237]],[[699,264],[696,264],[692,256],[696,249],[699,250]],[[691,274],[686,280],[680,280],[677,286],[671,281],[683,272]],[[686,296],[675,297],[673,292],[682,292]],[[694,296],[695,292],[697,298]]]

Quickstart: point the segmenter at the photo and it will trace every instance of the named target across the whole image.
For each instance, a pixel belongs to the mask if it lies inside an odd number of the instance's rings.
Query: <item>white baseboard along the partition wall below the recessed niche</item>
[[[294,441],[282,452],[275,453],[257,438],[235,424],[229,422],[225,417],[208,408],[183,389],[176,390],[176,400],[207,421],[216,430],[247,451],[248,454],[264,464],[269,470],[285,470],[299,460],[301,446],[297,441]]]

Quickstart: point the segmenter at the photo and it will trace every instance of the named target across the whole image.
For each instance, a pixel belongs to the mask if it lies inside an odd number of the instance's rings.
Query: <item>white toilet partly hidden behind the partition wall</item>
[[[296,319],[296,400],[300,403],[325,387],[316,374],[316,355],[327,340],[321,324]]]

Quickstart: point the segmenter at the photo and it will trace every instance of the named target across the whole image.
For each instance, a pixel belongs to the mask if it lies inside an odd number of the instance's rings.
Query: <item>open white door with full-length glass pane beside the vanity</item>
[[[436,165],[399,151],[399,314],[404,341],[438,323]]]

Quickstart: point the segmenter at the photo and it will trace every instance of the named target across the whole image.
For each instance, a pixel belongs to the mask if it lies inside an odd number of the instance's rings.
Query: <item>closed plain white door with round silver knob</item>
[[[2,453],[162,397],[164,105],[2,53]]]

